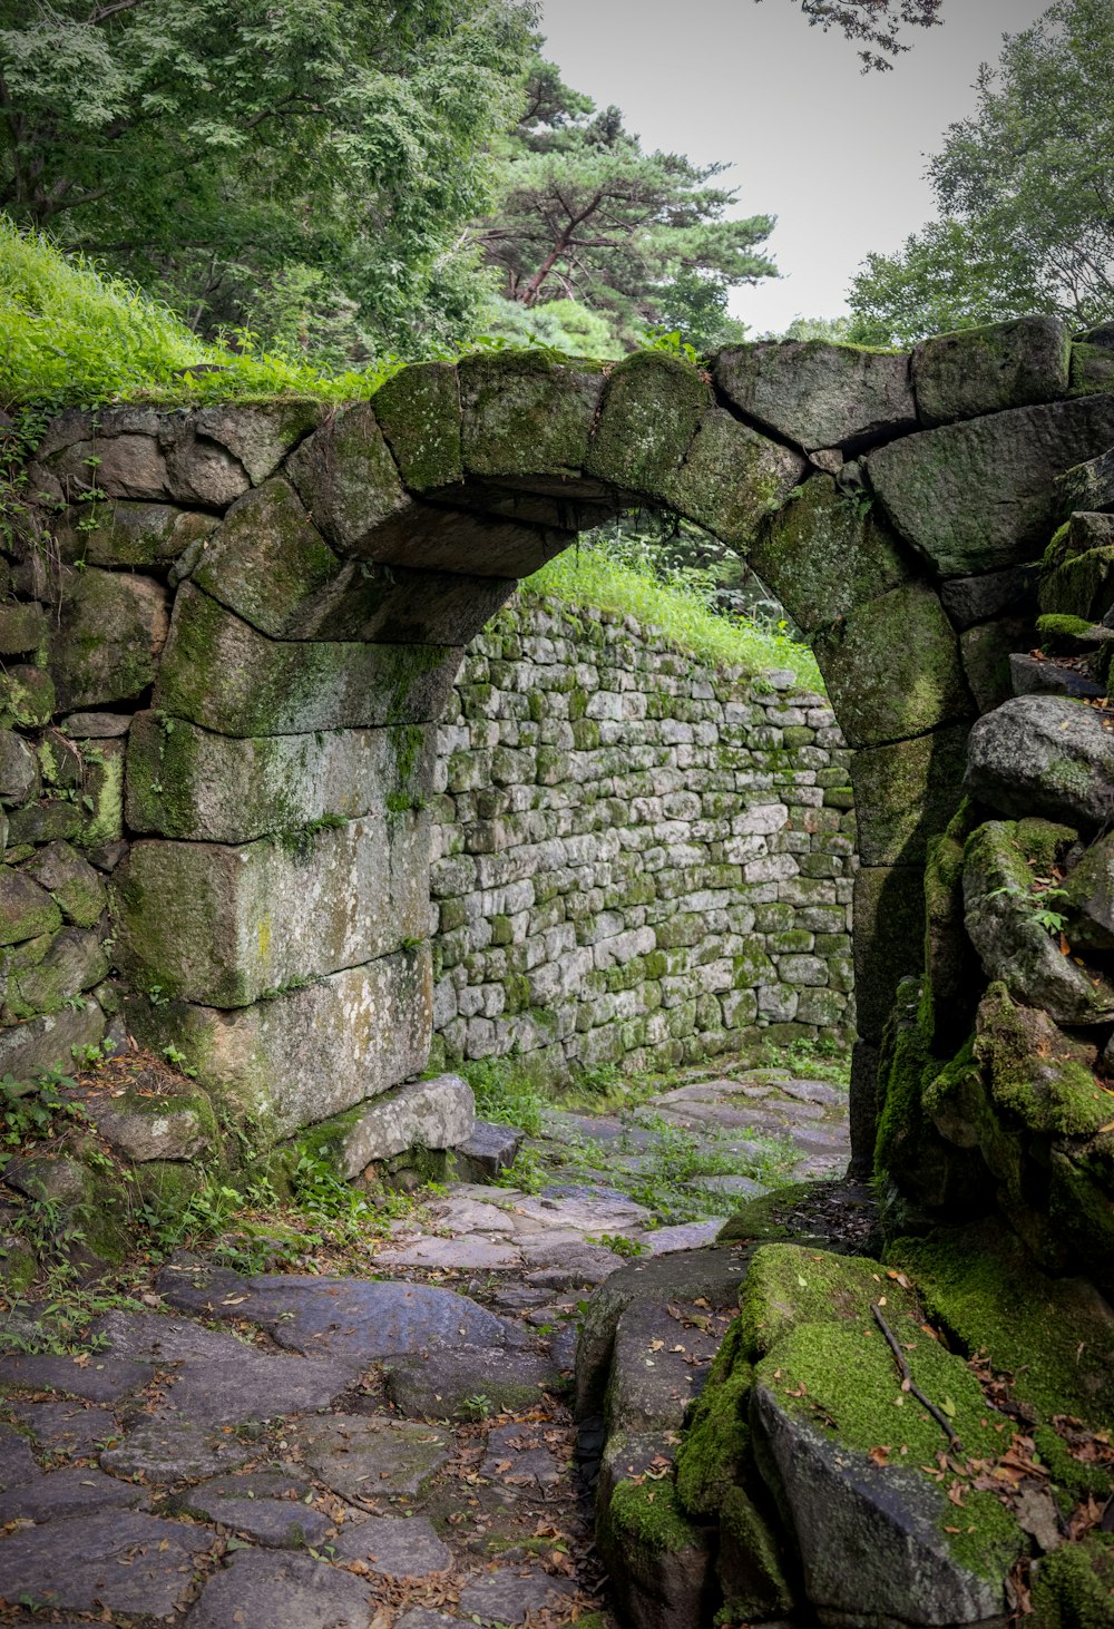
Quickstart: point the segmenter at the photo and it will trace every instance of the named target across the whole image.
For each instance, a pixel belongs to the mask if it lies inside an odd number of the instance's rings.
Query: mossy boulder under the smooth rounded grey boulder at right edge
[[[1114,984],[1064,955],[1064,919],[1044,901],[1052,867],[1073,842],[1070,828],[1047,821],[987,821],[964,850],[964,920],[987,979],[1057,1023],[1104,1023],[1114,1018]]]

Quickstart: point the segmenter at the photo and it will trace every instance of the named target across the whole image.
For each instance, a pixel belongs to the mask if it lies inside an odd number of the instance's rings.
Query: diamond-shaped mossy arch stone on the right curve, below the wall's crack
[[[749,562],[806,632],[909,582],[904,551],[868,494],[813,476],[759,528]]]

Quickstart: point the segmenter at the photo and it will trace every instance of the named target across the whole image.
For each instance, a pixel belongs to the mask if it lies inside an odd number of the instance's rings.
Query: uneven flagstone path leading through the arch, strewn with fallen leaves
[[[171,1261],[90,1354],[0,1357],[0,1622],[607,1629],[578,1308],[632,1258],[705,1243],[762,1176],[845,1161],[839,1088],[691,1075],[624,1114],[555,1111],[520,1155],[531,1191],[454,1184],[381,1277]],[[686,1394],[726,1316],[673,1342]]]

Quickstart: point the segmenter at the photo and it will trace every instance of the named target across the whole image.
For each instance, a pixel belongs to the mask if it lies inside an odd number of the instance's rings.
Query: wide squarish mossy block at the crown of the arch
[[[477,476],[578,476],[604,391],[599,368],[534,352],[466,357],[461,450]]]

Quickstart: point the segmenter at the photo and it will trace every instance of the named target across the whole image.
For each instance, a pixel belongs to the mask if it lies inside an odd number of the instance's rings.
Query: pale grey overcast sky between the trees
[[[891,73],[801,18],[796,0],[542,0],[547,55],[598,103],[622,108],[647,148],[733,165],[739,215],[777,215],[783,274],[736,290],[756,332],[836,316],[871,249],[897,249],[933,213],[923,179],[945,127],[974,109],[997,60],[1049,0],[945,0]]]

